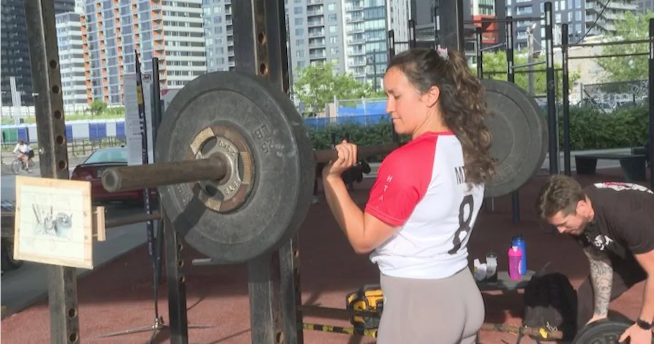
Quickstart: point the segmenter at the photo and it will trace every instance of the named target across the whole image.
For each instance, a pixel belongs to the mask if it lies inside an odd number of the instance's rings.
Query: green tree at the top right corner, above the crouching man
[[[610,41],[639,41],[649,39],[649,19],[654,18],[654,12],[634,15],[625,12],[624,18],[615,21],[615,33],[610,35]],[[639,54],[649,51],[649,44],[615,44],[602,46],[602,55]],[[643,80],[647,78],[647,55],[620,56],[614,58],[598,58],[597,64],[604,69],[604,82]]]

